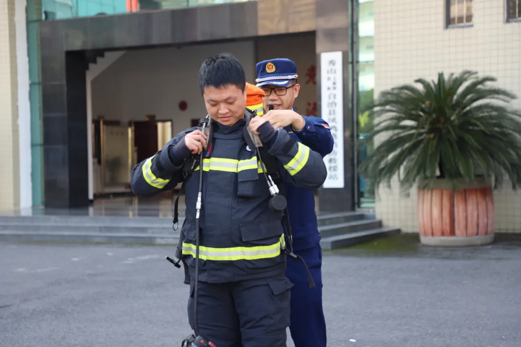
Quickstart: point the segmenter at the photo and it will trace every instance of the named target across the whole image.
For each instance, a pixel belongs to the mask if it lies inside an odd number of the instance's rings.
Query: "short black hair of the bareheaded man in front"
[[[241,62],[231,54],[218,54],[206,59],[199,69],[199,89],[204,94],[204,88],[213,86],[220,88],[233,84],[244,92],[246,74]]]

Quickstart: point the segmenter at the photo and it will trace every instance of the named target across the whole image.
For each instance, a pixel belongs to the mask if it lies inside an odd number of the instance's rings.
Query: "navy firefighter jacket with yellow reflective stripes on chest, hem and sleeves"
[[[268,184],[254,153],[244,139],[244,119],[232,126],[211,122],[212,144],[203,160],[200,215],[199,278],[206,282],[231,282],[282,275],[286,268],[282,214],[269,208]],[[139,197],[152,197],[182,182],[185,158],[172,150],[192,127],[171,139],[162,150],[135,166],[131,187]],[[269,123],[259,126],[261,142],[279,163],[283,181],[303,189],[324,183],[327,170],[319,153],[309,150],[282,129]],[[187,156],[188,157],[188,156]],[[266,161],[266,160],[265,160]],[[199,166],[185,182],[183,259],[195,276],[195,213],[199,192]]]

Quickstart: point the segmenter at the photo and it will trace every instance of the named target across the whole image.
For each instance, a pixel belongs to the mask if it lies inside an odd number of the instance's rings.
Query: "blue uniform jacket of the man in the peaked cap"
[[[295,109],[293,108],[293,111]],[[303,115],[306,122],[301,131],[294,131],[291,125],[284,128],[296,142],[318,152],[322,158],[333,150],[333,136],[329,124],[318,117]],[[315,213],[314,190],[296,188],[284,184],[288,212],[293,233],[293,249],[302,250],[320,242],[317,215]]]

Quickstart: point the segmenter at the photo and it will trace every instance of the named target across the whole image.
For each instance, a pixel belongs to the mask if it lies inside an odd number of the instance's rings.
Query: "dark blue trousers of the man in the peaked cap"
[[[322,310],[322,249],[315,247],[294,251],[304,259],[315,281],[309,288],[304,265],[288,258],[286,276],[293,283],[291,288],[291,338],[295,347],[326,347],[326,320]]]

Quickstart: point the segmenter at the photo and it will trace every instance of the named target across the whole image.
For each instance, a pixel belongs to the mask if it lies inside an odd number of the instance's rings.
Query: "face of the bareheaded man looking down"
[[[208,86],[203,92],[206,111],[212,120],[222,125],[233,125],[244,118],[246,88],[244,92],[233,84],[220,88]]]

